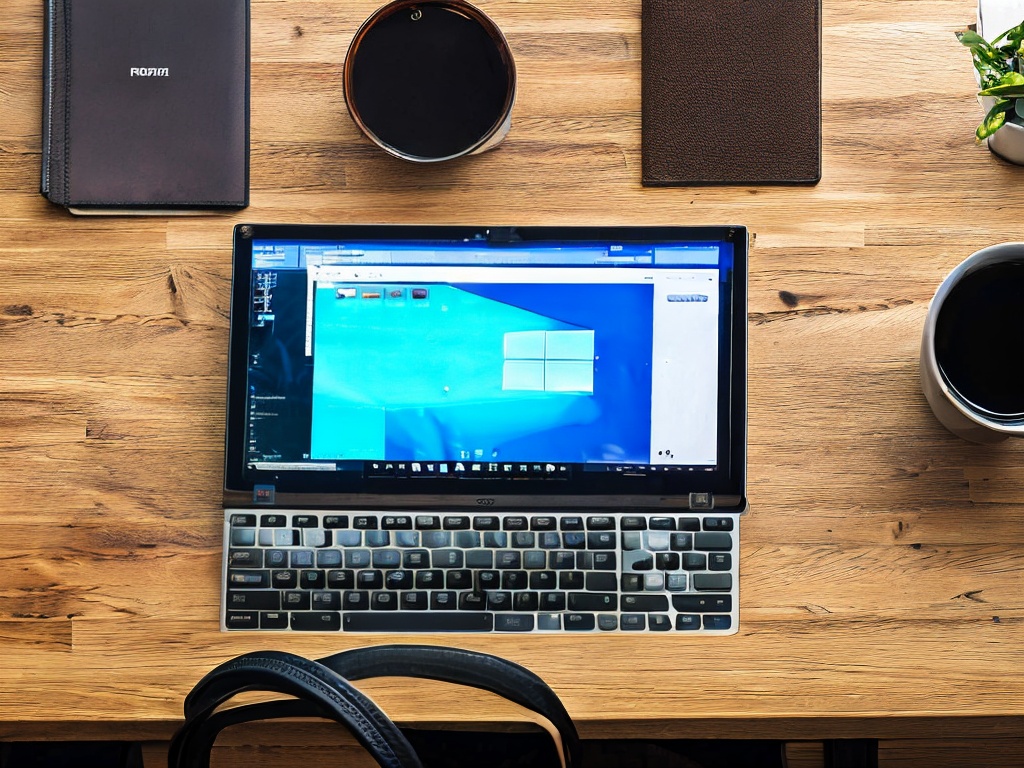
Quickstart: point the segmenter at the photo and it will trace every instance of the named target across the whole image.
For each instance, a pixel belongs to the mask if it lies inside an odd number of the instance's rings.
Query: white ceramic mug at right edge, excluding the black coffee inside
[[[967,275],[983,267],[1008,262],[1024,264],[1024,243],[989,246],[969,256],[939,286],[925,321],[921,342],[922,389],[938,420],[949,431],[973,442],[990,443],[1007,437],[1024,437],[1024,418],[997,417],[970,402],[956,391],[955,386],[947,381],[936,357],[936,324],[950,292]],[[1024,311],[1024,294],[1019,300]],[[1021,323],[1019,332],[1024,336],[1024,322]],[[1020,360],[1018,362],[1024,365]],[[1024,377],[1019,383],[1024,389]]]

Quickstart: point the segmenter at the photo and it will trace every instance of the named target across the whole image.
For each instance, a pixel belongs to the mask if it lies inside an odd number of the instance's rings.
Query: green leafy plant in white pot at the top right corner
[[[991,42],[974,30],[957,32],[956,39],[971,50],[986,111],[975,135],[999,157],[1024,165],[1024,22]]]

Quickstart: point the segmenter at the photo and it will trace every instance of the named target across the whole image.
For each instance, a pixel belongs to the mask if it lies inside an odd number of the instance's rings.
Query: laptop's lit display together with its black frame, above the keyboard
[[[740,227],[241,225],[226,489],[741,496],[745,247]]]

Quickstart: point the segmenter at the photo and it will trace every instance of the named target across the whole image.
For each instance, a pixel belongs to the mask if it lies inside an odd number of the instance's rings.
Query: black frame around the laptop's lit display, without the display
[[[720,463],[714,471],[692,473],[581,472],[569,480],[539,478],[388,478],[364,477],[339,487],[335,473],[247,469],[247,387],[249,315],[254,242],[394,242],[488,239],[492,242],[724,242],[732,248],[732,274],[726,285],[727,323],[719,380],[724,419],[719,424]],[[748,238],[742,226],[525,226],[480,227],[403,224],[238,224],[233,232],[230,331],[228,344],[224,503],[289,507],[358,508],[549,508],[687,506],[690,494],[712,494],[718,508],[745,503],[746,472],[746,292]],[[340,474],[340,473],[339,473]],[[257,494],[257,489],[261,493]],[[268,493],[269,492],[269,493]]]

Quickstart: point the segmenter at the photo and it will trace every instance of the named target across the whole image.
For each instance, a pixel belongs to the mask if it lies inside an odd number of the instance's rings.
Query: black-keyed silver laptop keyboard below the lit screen
[[[721,512],[227,510],[222,626],[731,634],[738,559]]]

